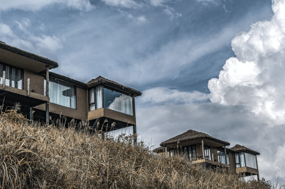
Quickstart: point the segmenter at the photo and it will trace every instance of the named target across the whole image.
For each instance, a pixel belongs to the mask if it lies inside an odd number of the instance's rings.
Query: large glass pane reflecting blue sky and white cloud
[[[104,108],[117,112],[134,115],[133,97],[104,88]]]

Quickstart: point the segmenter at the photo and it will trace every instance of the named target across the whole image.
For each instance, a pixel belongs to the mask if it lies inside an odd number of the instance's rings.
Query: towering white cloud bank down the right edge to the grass
[[[285,1],[272,1],[273,16],[252,24],[232,40],[236,57],[226,60],[218,78],[208,82],[212,103],[244,106],[266,134],[259,141],[268,150],[261,172],[285,180]],[[262,121],[260,121],[262,120]],[[249,125],[248,128],[251,128]],[[260,136],[258,136],[260,137]],[[258,141],[258,140],[257,140]]]

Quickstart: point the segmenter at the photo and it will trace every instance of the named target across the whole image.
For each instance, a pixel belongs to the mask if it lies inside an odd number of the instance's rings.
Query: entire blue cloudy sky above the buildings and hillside
[[[204,132],[285,183],[285,0],[2,0],[0,40],[141,91],[146,143]]]

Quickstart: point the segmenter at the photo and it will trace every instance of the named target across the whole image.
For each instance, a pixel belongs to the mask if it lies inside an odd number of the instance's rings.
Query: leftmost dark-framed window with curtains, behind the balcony
[[[23,89],[23,70],[14,66],[0,63],[0,83],[3,84],[3,71],[5,71],[5,85]]]

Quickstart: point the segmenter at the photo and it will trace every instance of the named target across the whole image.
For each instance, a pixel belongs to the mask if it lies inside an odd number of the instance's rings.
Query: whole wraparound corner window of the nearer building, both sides
[[[89,89],[89,111],[108,108],[117,112],[134,115],[133,97],[106,87]]]

